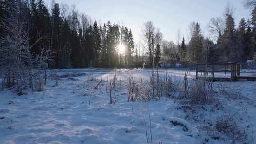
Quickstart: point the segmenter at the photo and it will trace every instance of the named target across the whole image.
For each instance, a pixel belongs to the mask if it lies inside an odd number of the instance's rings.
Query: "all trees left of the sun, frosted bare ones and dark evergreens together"
[[[60,8],[61,7],[61,8]],[[97,21],[75,6],[54,3],[51,14],[43,0],[0,0],[0,71],[8,87],[43,90],[44,70],[50,68],[131,67],[131,29]],[[126,45],[127,59],[118,63],[117,47]],[[122,57],[123,58],[123,57]],[[137,57],[141,59],[141,57]]]

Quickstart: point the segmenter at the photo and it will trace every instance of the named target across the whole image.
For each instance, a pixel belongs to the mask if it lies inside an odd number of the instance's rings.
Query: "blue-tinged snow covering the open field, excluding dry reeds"
[[[113,69],[58,70],[57,86],[51,78],[53,71],[47,72],[44,91],[28,90],[22,96],[17,96],[14,89],[0,91],[0,144],[147,144],[146,137],[151,144],[232,144],[230,138],[218,137],[221,132],[215,134],[202,128],[214,125],[227,113],[244,128],[247,143],[256,143],[256,82],[215,82],[217,92],[224,88],[226,91],[223,95],[218,93],[218,106],[194,110],[184,109],[169,97],[127,102],[128,77],[149,82],[150,69],[118,69],[117,86],[112,92],[115,104],[110,104],[106,90],[107,81],[113,79]],[[159,70],[166,71],[177,85],[183,83],[188,72]],[[188,76],[192,79],[195,72],[190,71]],[[170,123],[174,120],[187,130]]]

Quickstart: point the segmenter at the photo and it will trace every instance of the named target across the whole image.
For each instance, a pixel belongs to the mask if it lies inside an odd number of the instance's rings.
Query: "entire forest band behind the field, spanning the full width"
[[[236,27],[235,8],[228,3],[224,16],[210,18],[210,36],[203,36],[200,22],[191,22],[188,42],[180,33],[177,43],[164,40],[160,29],[148,21],[142,28],[142,41],[135,44],[128,27],[110,21],[99,25],[75,5],[53,3],[46,7],[43,0],[0,2],[2,66],[9,65],[5,55],[12,53],[12,41],[8,43],[7,39],[15,41],[10,36],[18,31],[26,34],[19,38],[27,42],[17,46],[23,46],[22,51],[31,59],[47,55],[47,51],[49,68],[152,67],[153,57],[155,65],[165,68],[174,63],[186,67],[196,62],[237,62],[247,66],[248,60],[255,59],[256,8],[251,18],[242,18]],[[17,30],[9,31],[11,27]],[[123,52],[118,52],[119,47]]]

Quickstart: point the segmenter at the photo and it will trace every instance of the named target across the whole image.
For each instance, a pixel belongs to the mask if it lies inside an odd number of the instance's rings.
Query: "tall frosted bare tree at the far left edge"
[[[8,85],[11,79],[17,86],[18,94],[22,94],[24,76],[27,74],[27,63],[30,57],[28,23],[18,18],[18,12],[4,18],[1,24],[6,35],[0,41],[5,45],[0,47],[3,54],[2,62],[5,63]]]

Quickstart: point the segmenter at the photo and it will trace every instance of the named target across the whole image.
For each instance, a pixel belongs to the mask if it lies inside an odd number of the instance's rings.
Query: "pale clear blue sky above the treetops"
[[[51,5],[52,0],[45,0]],[[124,24],[133,31],[135,41],[141,37],[141,27],[151,20],[160,28],[164,39],[177,40],[178,29],[185,38],[188,25],[197,21],[205,35],[206,26],[212,17],[223,16],[228,2],[236,9],[234,18],[236,27],[241,18],[250,18],[250,10],[243,8],[243,0],[55,0],[57,3],[75,4],[79,12],[90,15],[99,23]]]

